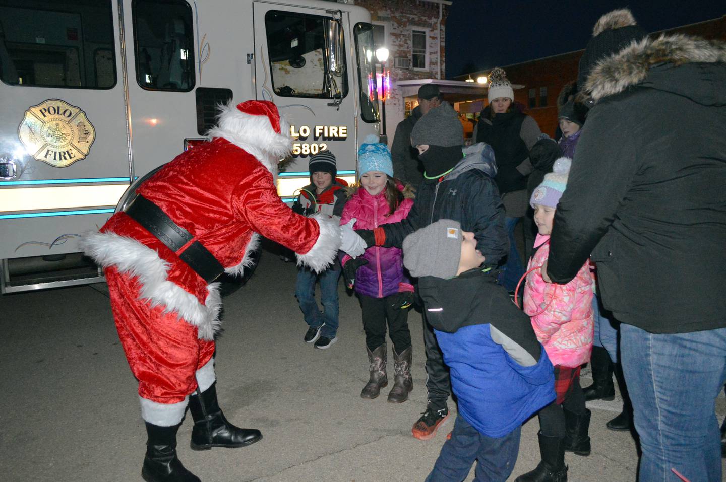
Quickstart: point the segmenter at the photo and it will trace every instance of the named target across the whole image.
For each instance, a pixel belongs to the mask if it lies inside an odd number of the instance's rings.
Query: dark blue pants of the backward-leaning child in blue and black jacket
[[[457,415],[452,438],[441,447],[425,482],[463,481],[475,460],[478,461],[475,482],[505,482],[517,462],[520,431],[517,427],[499,439],[492,439]]]

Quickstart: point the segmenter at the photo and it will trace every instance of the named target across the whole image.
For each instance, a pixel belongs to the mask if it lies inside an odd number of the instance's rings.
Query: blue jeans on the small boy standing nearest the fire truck
[[[306,267],[298,268],[298,281],[295,283],[295,296],[300,303],[305,323],[319,328],[323,323],[320,336],[335,338],[338,333],[338,279],[340,267],[335,265],[322,273],[314,273]],[[315,281],[320,281],[320,302],[322,312],[315,301]]]

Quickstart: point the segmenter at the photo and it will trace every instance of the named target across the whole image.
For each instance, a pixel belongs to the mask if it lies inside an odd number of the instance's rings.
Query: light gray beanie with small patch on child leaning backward
[[[404,266],[412,276],[453,278],[461,258],[461,224],[442,219],[404,239]]]

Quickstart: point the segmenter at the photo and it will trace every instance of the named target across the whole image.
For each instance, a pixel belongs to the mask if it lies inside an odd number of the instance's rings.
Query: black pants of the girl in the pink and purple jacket
[[[359,294],[363,309],[363,330],[365,344],[372,352],[386,341],[386,323],[388,333],[396,353],[403,353],[411,346],[411,333],[408,329],[408,309],[394,309],[391,306],[393,296],[373,298]]]

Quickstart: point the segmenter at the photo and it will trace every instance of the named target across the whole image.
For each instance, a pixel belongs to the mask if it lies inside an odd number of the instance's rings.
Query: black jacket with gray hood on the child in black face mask
[[[476,236],[476,248],[486,265],[497,265],[509,252],[504,228],[504,207],[494,184],[497,167],[494,151],[486,144],[464,150],[465,157],[451,173],[435,183],[421,183],[406,219],[381,226],[386,232],[383,246],[402,246],[404,238],[440,219],[461,223],[462,230]]]

